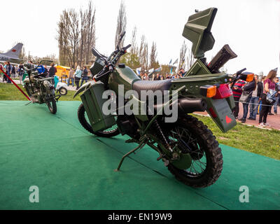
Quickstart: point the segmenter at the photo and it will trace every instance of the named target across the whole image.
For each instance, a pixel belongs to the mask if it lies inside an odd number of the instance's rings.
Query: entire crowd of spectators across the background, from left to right
[[[29,62],[32,64],[32,62]],[[23,65],[12,65],[10,62],[5,62],[3,65],[4,71],[11,78],[18,76],[22,80],[23,73],[25,73]],[[55,64],[51,64],[48,69],[47,66],[40,65],[37,68],[38,73],[44,73],[46,77],[54,77],[57,73]],[[280,106],[280,82],[279,78],[276,77],[277,69],[269,71],[267,76],[259,77],[254,75],[254,78],[251,82],[246,83],[244,80],[237,80],[234,85],[230,86],[232,88],[233,97],[235,99],[235,109],[232,110],[236,119],[241,120],[241,123],[246,123],[248,120],[256,120],[257,115],[259,115],[258,123],[260,127],[269,127],[267,123],[267,116],[272,116],[277,114],[277,106]],[[181,78],[183,77],[185,71],[180,69],[178,73],[166,73],[163,76],[161,73],[156,73],[152,77],[148,76],[148,72],[140,73],[139,78],[141,80],[165,80],[170,78]],[[67,85],[76,85],[76,90],[87,82],[90,78],[88,76],[89,71],[86,66],[81,68],[80,66],[76,67],[76,70],[73,68],[70,69]],[[3,75],[3,74],[2,74]],[[6,76],[2,76],[3,82],[11,83]],[[242,99],[242,94],[246,92],[246,99]],[[273,94],[274,92],[274,94]],[[268,97],[273,94],[273,102],[269,102]],[[242,100],[241,100],[242,99]],[[243,106],[243,115],[239,118],[239,104]],[[272,113],[272,108],[273,112]],[[247,118],[248,117],[248,118]]]

